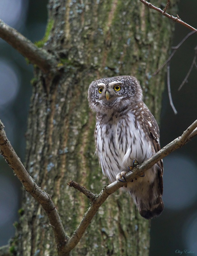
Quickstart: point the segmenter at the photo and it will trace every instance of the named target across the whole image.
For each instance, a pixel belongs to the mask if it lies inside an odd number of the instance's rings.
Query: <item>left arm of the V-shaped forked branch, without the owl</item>
[[[17,175],[18,179],[23,184],[25,190],[29,192],[43,207],[44,211],[47,214],[50,225],[53,227],[55,241],[57,243],[57,249],[60,256],[63,256],[62,248],[65,243],[68,241],[69,237],[66,236],[64,232],[64,228],[62,225],[62,221],[58,214],[57,209],[51,197],[43,191],[29,173],[26,171],[24,165],[20,161],[20,158],[17,156],[13,147],[11,146],[10,141],[8,140],[5,131],[4,125],[0,120],[0,152],[2,156],[5,158],[6,162],[12,168],[12,170]]]

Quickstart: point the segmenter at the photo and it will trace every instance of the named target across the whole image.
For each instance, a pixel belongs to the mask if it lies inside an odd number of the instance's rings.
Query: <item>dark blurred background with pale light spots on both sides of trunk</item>
[[[47,0],[1,0],[0,19],[32,42],[40,40],[47,22]],[[165,2],[165,1],[164,1]],[[179,3],[179,17],[197,27],[197,1]],[[174,14],[176,16],[176,14]],[[169,22],[171,22],[169,20]],[[173,46],[190,30],[175,24]],[[196,35],[191,36],[171,60],[171,93],[174,115],[169,103],[167,84],[163,94],[160,135],[161,147],[177,138],[197,118],[197,72],[193,68],[188,82],[178,92],[194,56]],[[8,139],[24,162],[25,132],[33,66],[0,39],[0,119]],[[151,221],[151,256],[189,254],[197,256],[197,138],[164,158],[164,204],[162,215]],[[14,236],[18,220],[21,184],[0,156],[0,246]],[[184,250],[188,250],[184,252]],[[182,254],[181,254],[182,252]]]

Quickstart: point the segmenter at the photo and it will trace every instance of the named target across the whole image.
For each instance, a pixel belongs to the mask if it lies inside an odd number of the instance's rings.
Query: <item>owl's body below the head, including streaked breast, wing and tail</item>
[[[126,171],[133,159],[139,164],[160,150],[159,128],[147,106],[141,102],[121,113],[97,113],[96,152],[104,175],[113,182]],[[162,160],[146,171],[145,177],[128,182],[129,190],[140,214],[146,219],[158,216],[164,208]]]

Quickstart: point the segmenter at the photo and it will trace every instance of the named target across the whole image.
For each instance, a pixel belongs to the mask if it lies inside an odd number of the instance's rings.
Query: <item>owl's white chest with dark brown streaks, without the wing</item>
[[[142,163],[152,155],[150,142],[135,116],[97,116],[95,142],[102,171],[111,181],[136,159]]]

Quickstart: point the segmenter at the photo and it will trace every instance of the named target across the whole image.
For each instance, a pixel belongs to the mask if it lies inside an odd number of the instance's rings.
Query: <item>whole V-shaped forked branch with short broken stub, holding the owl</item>
[[[140,164],[134,169],[134,172],[128,172],[126,174],[127,181],[135,179],[135,177],[141,172],[145,172],[150,169],[154,164],[160,161],[165,156],[169,155],[172,151],[177,148],[183,147],[188,141],[197,135],[197,120],[191,124],[183,134],[177,139],[173,140],[167,146],[159,150],[155,155],[151,156],[148,160]],[[50,196],[33,181],[32,177],[26,171],[24,165],[20,161],[16,152],[12,148],[10,141],[7,139],[4,125],[0,121],[0,150],[7,163],[10,165],[12,170],[18,176],[18,179],[23,184],[27,192],[29,192],[43,207],[51,226],[53,227],[55,240],[58,248],[59,256],[68,256],[70,251],[78,244],[81,237],[83,236],[86,228],[91,223],[92,218],[98,211],[98,208],[105,202],[107,197],[113,192],[122,187],[121,181],[114,181],[110,185],[104,186],[98,196],[94,195],[91,191],[79,185],[75,181],[70,181],[69,186],[72,186],[82,193],[84,193],[90,200],[91,206],[84,215],[83,220],[79,224],[78,228],[74,231],[73,235],[69,238],[66,236],[62,221],[52,202]],[[125,185],[125,184],[124,184]]]

